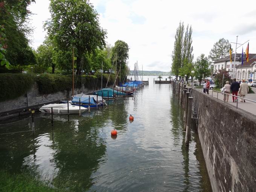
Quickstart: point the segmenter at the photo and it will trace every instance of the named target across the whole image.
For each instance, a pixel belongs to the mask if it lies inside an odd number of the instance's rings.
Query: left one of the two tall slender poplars
[[[174,42],[174,50],[172,51],[172,73],[175,74],[176,79],[178,79],[179,69],[182,67],[183,63],[183,34],[184,34],[184,23],[179,24]]]

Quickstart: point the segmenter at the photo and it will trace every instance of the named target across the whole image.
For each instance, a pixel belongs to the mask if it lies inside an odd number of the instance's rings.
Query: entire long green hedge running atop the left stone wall
[[[109,74],[103,74],[102,87],[105,88],[108,81]],[[113,85],[115,76],[111,75],[108,85]],[[34,76],[23,73],[0,73],[0,95],[1,101],[8,99],[15,99],[28,91],[34,82],[37,82],[39,92],[42,94],[56,93],[58,91],[72,90],[72,75],[55,75],[55,74],[42,74]],[[75,86],[81,88],[81,76],[77,78],[75,75]],[[91,90],[99,90],[101,88],[101,75],[83,75],[83,84],[86,88]]]

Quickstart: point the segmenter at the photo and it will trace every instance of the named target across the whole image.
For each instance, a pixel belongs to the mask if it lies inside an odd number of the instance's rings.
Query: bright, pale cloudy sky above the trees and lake
[[[220,38],[242,44],[247,40],[249,53],[256,53],[256,1],[230,0],[91,0],[99,14],[101,27],[107,30],[107,43],[117,40],[130,47],[128,65],[139,69],[171,70],[172,50],[179,22],[192,25],[194,61],[201,54],[209,55]],[[50,18],[48,0],[36,0],[29,7],[34,27],[31,46],[43,43],[43,23]],[[247,43],[244,44],[244,52]],[[235,44],[232,44],[235,51]],[[237,53],[242,52],[239,47]]]

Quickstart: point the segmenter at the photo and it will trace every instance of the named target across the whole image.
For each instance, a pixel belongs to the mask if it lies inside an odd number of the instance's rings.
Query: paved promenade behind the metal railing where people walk
[[[253,89],[254,93],[247,94],[245,96],[245,98],[256,101],[256,88],[252,88],[252,89]],[[217,92],[209,90],[209,97],[212,97],[212,96],[217,98]],[[224,94],[218,93],[218,99],[223,101],[223,98],[224,98]],[[227,104],[234,105],[236,107],[236,103],[233,103],[232,96],[229,96],[229,101],[227,102]],[[241,99],[238,98],[238,109],[237,110],[239,110],[239,108],[256,115],[256,102],[251,102],[251,101],[241,102]]]

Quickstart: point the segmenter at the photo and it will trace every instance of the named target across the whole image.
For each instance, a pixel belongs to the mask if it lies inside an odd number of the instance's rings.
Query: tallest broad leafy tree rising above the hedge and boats
[[[49,38],[59,50],[70,51],[75,47],[77,68],[83,56],[105,46],[107,33],[89,1],[51,0],[49,9],[52,18],[45,25]]]

